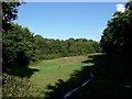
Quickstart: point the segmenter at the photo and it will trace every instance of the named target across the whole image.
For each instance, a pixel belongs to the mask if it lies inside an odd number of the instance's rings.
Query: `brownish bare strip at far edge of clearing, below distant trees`
[[[62,61],[67,61],[67,62],[82,62],[86,61],[88,56],[72,56],[72,57],[61,57],[61,58],[55,58],[55,62],[62,62]]]

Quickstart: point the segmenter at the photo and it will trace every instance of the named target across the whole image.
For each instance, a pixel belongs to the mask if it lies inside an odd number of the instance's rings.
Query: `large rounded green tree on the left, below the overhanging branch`
[[[11,29],[2,35],[4,66],[28,65],[35,59],[36,45],[33,33],[28,28],[11,23]]]

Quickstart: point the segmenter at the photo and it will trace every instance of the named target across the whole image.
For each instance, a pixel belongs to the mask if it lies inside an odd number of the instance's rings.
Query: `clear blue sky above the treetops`
[[[26,2],[14,22],[47,38],[99,41],[120,2]]]

